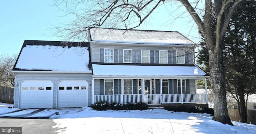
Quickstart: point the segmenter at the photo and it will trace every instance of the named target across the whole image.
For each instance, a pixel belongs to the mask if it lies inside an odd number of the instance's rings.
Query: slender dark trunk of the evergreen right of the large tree
[[[238,87],[238,96],[240,97],[239,100],[239,109],[240,109],[240,122],[247,123],[247,114],[246,114],[246,106],[245,106],[245,100],[244,100],[244,89],[241,87]]]

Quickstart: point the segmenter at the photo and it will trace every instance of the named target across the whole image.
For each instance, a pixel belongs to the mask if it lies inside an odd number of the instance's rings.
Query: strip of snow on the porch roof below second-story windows
[[[197,66],[92,64],[94,76],[206,76]]]

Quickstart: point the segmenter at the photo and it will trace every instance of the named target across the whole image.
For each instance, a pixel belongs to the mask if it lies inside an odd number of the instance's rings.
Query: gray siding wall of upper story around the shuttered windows
[[[186,48],[185,48],[186,47]],[[101,44],[95,44],[92,43],[91,46],[91,54],[92,54],[92,58],[91,61],[92,62],[101,62],[100,61],[100,49],[104,49],[104,48],[113,48],[114,50],[117,50],[117,61],[118,63],[122,63],[122,60],[120,62],[120,57],[122,58],[122,54],[120,54],[120,50],[122,51],[123,49],[132,49],[133,53],[135,52],[136,54],[133,54],[133,56],[136,57],[136,61],[133,61],[133,63],[140,63],[139,58],[140,55],[138,54],[138,52],[140,52],[141,50],[153,50],[154,51],[154,62],[152,63],[157,63],[159,58],[157,55],[157,53],[159,52],[159,50],[168,50],[168,64],[176,64],[176,50],[188,50],[189,48],[187,46],[184,46],[184,48],[179,48],[176,47],[176,49],[170,48],[169,46],[162,46],[162,45],[136,45],[136,44],[118,44],[118,45],[113,45],[113,44],[108,44],[108,43],[101,43]],[[186,54],[186,51],[185,51]],[[188,61],[186,64],[193,64],[194,63],[194,54],[187,54],[185,55],[185,59],[186,61]]]

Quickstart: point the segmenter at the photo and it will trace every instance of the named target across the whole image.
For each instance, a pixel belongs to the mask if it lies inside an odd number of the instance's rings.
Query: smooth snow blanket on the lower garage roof
[[[88,68],[88,47],[58,46],[56,44],[30,45],[30,43],[25,44],[25,42],[14,70],[91,72]],[[41,42],[47,44],[47,41]]]

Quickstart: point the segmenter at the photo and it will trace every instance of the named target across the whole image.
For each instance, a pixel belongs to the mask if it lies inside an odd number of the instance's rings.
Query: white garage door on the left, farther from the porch
[[[20,108],[52,108],[53,83],[50,80],[24,80],[20,83]]]

